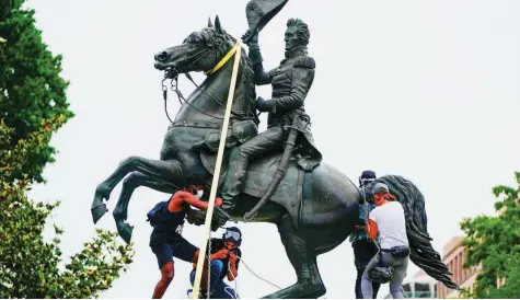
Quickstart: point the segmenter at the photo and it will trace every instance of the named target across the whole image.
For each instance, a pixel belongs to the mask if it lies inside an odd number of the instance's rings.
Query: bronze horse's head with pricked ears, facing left
[[[192,33],[182,45],[164,49],[155,55],[155,68],[178,73],[211,70],[235,45],[236,41],[222,28],[219,16],[208,27]]]

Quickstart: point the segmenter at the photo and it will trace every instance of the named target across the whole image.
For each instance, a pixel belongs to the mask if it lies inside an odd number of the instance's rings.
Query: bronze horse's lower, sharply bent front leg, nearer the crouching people
[[[130,203],[131,194],[139,186],[147,186],[159,192],[173,194],[178,191],[180,187],[170,184],[160,178],[153,178],[145,175],[140,172],[132,172],[123,181],[123,188],[117,200],[116,208],[114,209],[114,220],[116,221],[117,232],[126,243],[130,243],[131,232],[134,227],[126,221],[128,217],[128,205]]]

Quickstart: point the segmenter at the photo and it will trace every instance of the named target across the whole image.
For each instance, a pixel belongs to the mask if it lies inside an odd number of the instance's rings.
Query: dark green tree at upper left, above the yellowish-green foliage
[[[62,115],[65,124],[73,116],[66,96],[69,83],[60,77],[61,56],[47,49],[35,26],[34,10],[23,8],[24,2],[0,0],[0,118],[15,129],[9,147],[38,130],[44,119]],[[48,142],[38,147],[27,153],[23,168],[12,172],[9,181],[25,175],[44,182],[43,170],[54,162],[56,150]]]

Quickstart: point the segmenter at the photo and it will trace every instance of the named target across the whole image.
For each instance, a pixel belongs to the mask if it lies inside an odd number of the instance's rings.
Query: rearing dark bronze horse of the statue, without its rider
[[[122,180],[123,189],[113,216],[126,242],[131,239],[131,227],[126,223],[128,204],[137,187],[147,186],[173,194],[195,184],[204,185],[206,192],[209,191],[234,60],[230,53],[244,51],[236,49],[235,43],[236,39],[224,32],[217,16],[215,26],[208,24],[208,27],[190,34],[182,45],[155,56],[155,68],[166,71],[170,78],[192,71],[205,71],[207,78],[184,102],[167,129],[159,160],[130,157],[97,186],[92,203],[94,223],[107,211],[103,200],[108,200],[111,192]],[[252,65],[247,56],[242,55],[222,173],[227,172],[226,153],[229,154],[229,149],[257,135],[255,100]],[[231,214],[233,220],[242,220],[242,216],[265,194],[280,155],[274,154],[250,164],[244,192]],[[401,176],[383,176],[372,185],[378,182],[389,185],[403,204],[412,262],[449,288],[458,288],[448,277],[450,273],[440,261],[440,255],[431,246],[421,193]],[[371,191],[371,187],[368,186],[367,191]],[[358,189],[349,178],[326,163],[321,163],[312,171],[303,171],[292,160],[277,191],[251,220],[278,227],[298,278],[294,285],[266,298],[323,296],[326,289],[316,257],[346,240],[355,230],[359,204],[370,197],[370,193]]]

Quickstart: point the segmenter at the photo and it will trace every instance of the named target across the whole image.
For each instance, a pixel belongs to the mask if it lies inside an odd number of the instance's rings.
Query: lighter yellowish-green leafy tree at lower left
[[[65,117],[44,122],[41,130],[18,139],[14,130],[0,123],[0,298],[93,298],[108,289],[131,263],[132,245],[117,242],[116,233],[97,230],[81,252],[63,259],[59,236],[45,241],[42,232],[47,217],[59,203],[27,199],[31,177],[23,172],[27,153],[47,145]],[[11,182],[12,173],[21,180]],[[53,238],[53,236],[51,236]]]

